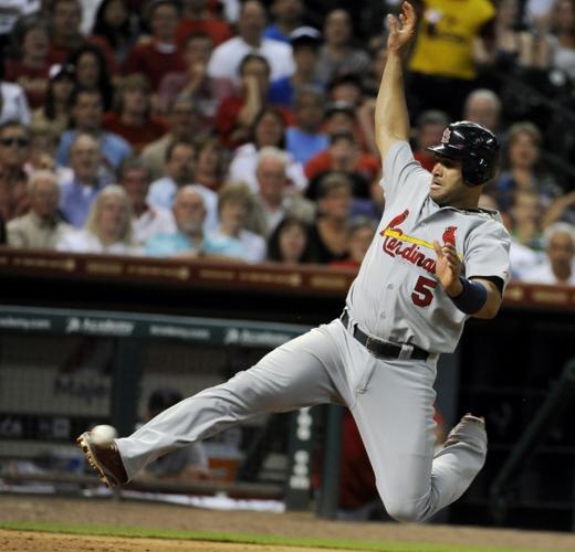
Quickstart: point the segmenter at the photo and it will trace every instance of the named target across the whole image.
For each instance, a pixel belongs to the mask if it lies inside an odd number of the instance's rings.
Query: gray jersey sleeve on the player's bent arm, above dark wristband
[[[511,240],[501,224],[484,224],[470,236],[463,264],[467,278],[501,278],[503,288],[511,275]]]

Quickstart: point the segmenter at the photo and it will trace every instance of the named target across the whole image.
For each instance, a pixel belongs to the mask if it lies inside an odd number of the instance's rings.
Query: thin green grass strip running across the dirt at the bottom
[[[50,533],[86,534],[98,537],[123,537],[146,539],[177,539],[210,542],[232,542],[241,544],[266,544],[282,546],[305,546],[330,550],[377,550],[380,552],[542,552],[542,549],[479,546],[459,544],[430,544],[421,542],[375,542],[346,539],[293,538],[268,534],[215,533],[203,531],[179,531],[118,526],[52,523],[48,521],[0,521],[0,529],[19,531],[44,531]]]

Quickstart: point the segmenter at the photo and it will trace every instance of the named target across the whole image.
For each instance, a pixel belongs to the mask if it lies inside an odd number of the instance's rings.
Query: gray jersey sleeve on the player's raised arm
[[[401,193],[405,187],[429,185],[431,174],[414,158],[407,141],[396,141],[384,159],[384,176],[380,185],[384,189],[386,203]],[[411,193],[414,190],[409,190]]]

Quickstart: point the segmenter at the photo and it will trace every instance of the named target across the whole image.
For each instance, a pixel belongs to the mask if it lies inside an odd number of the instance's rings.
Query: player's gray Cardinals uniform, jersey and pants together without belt
[[[351,320],[314,328],[116,439],[130,478],[158,456],[255,414],[336,402],[357,423],[391,517],[428,519],[464,492],[485,460],[487,434],[468,423],[436,454],[438,354],[375,357],[354,338],[353,327],[357,322],[374,336],[433,353],[452,350],[466,316],[436,279],[432,241],[456,243],[467,276],[506,283],[509,236],[495,214],[435,204],[430,174],[407,144],[394,145],[384,168],[386,210],[349,290]],[[408,349],[401,347],[401,353]]]

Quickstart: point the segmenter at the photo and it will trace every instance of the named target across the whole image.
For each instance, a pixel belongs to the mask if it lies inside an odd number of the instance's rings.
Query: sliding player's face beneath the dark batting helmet
[[[437,157],[431,171],[429,197],[441,206],[477,206],[470,204],[470,188],[463,182],[461,161],[447,157]]]

